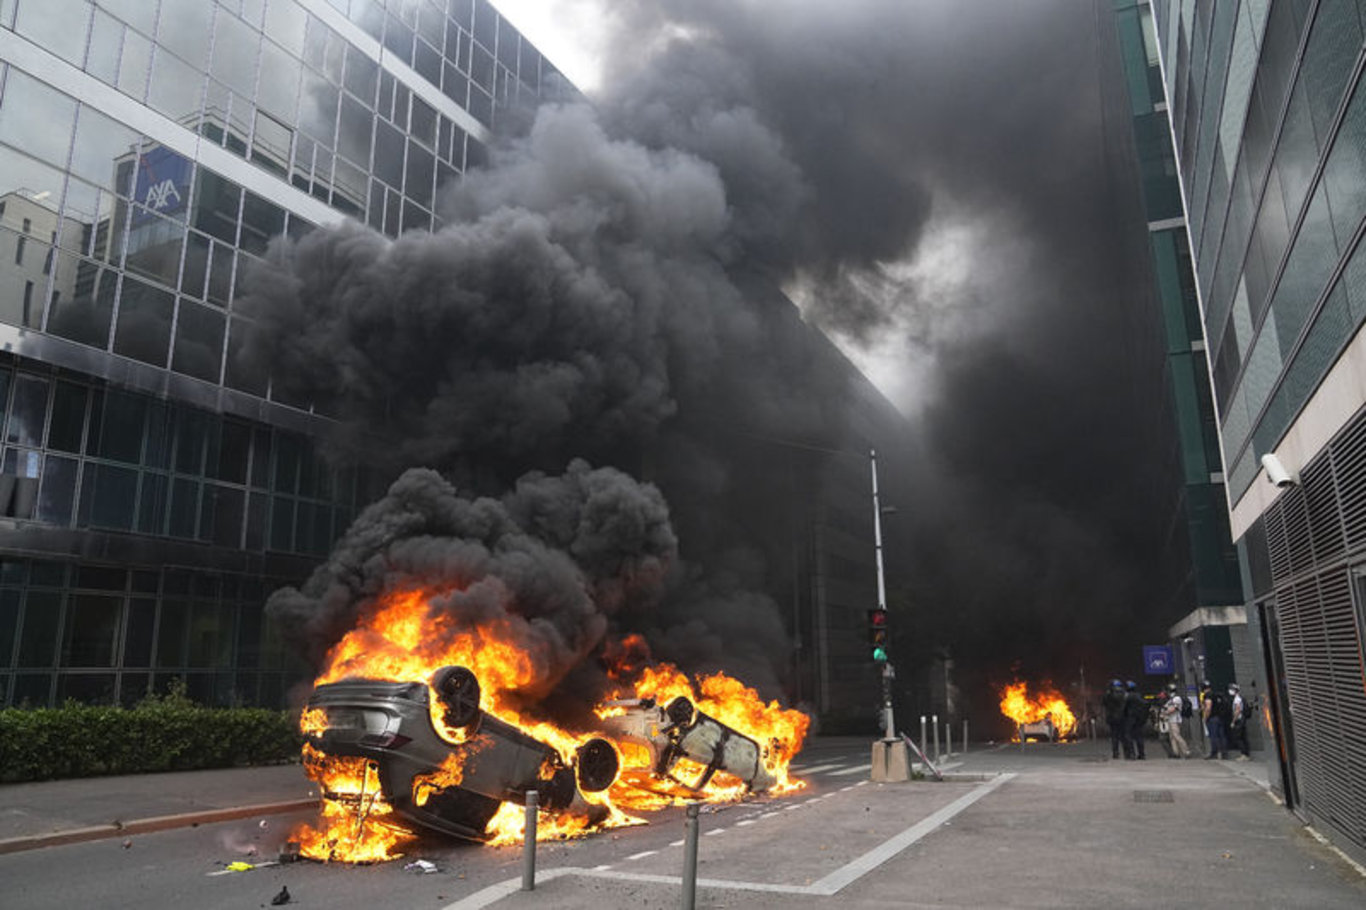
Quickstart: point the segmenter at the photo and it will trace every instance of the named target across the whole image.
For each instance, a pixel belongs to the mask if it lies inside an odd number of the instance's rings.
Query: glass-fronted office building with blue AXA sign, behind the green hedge
[[[0,706],[280,704],[262,616],[385,478],[242,374],[279,234],[438,227],[563,81],[485,0],[0,0]]]

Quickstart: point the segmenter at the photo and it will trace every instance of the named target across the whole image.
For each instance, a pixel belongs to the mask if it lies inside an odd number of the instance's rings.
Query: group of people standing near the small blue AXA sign
[[[1111,731],[1111,757],[1142,761],[1143,731],[1150,716],[1157,716],[1157,730],[1168,739],[1171,758],[1190,758],[1191,750],[1182,731],[1187,717],[1195,715],[1195,705],[1177,691],[1176,683],[1168,683],[1161,701],[1149,705],[1134,680],[1121,683],[1112,679],[1101,698],[1105,709],[1105,723]],[[1243,700],[1238,683],[1229,683],[1227,690],[1216,689],[1208,679],[1201,686],[1199,716],[1205,724],[1209,754],[1206,758],[1228,758],[1229,749],[1240,754],[1238,761],[1249,760],[1247,721],[1253,709]]]

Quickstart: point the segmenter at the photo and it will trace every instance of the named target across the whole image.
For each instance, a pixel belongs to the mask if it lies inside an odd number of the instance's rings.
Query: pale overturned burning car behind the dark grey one
[[[611,706],[624,711],[602,721],[604,732],[645,746],[650,752],[652,772],[658,777],[694,791],[705,788],[719,771],[738,777],[751,792],[762,792],[777,783],[764,765],[764,750],[757,742],[698,711],[684,695],[664,706],[653,698],[622,700]],[[695,780],[675,775],[683,758],[702,765]]]

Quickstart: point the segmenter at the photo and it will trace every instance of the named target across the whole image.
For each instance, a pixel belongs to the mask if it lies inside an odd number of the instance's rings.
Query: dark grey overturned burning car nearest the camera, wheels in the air
[[[400,824],[488,840],[505,802],[597,824],[609,808],[585,794],[607,790],[620,761],[605,739],[578,745],[572,762],[523,730],[479,708],[479,682],[466,667],[443,667],[426,682],[342,679],[320,685],[301,724],[305,765],[325,801],[358,817],[392,813]],[[354,773],[339,775],[339,769]],[[337,783],[344,780],[346,783]]]

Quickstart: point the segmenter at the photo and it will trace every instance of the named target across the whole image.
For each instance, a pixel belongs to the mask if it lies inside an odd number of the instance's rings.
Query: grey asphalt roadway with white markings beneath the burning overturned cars
[[[974,773],[958,780],[876,784],[867,753],[817,742],[799,757],[805,791],[705,812],[697,906],[1366,906],[1366,877],[1232,765],[1031,746],[968,756],[959,771]],[[519,847],[449,842],[372,866],[224,873],[251,846],[272,854],[309,817],[0,855],[0,906],[268,907],[281,887],[303,907],[679,906],[682,810],[540,844],[533,892],[516,887]],[[406,872],[415,858],[438,872]]]

